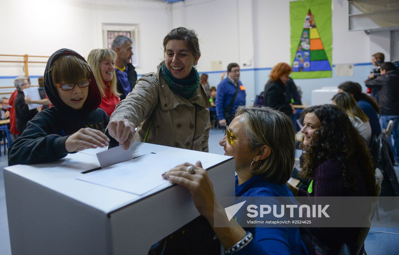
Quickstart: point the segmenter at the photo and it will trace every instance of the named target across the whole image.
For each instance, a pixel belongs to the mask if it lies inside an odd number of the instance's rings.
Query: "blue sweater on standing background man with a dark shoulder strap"
[[[245,96],[247,93],[245,93],[245,89],[241,90],[243,88],[243,84],[241,81],[238,81],[238,86],[242,86],[238,88],[238,93],[237,97],[235,98],[235,101],[233,103],[233,107],[231,107],[230,114],[235,113],[235,110],[240,106],[240,105],[245,105]],[[230,105],[231,99],[233,99],[233,96],[235,94],[235,85],[229,82],[228,78],[223,79],[219,85],[217,86],[217,92],[216,92],[216,115],[219,118],[219,120],[226,119],[227,116],[224,114],[223,109],[227,109]]]

